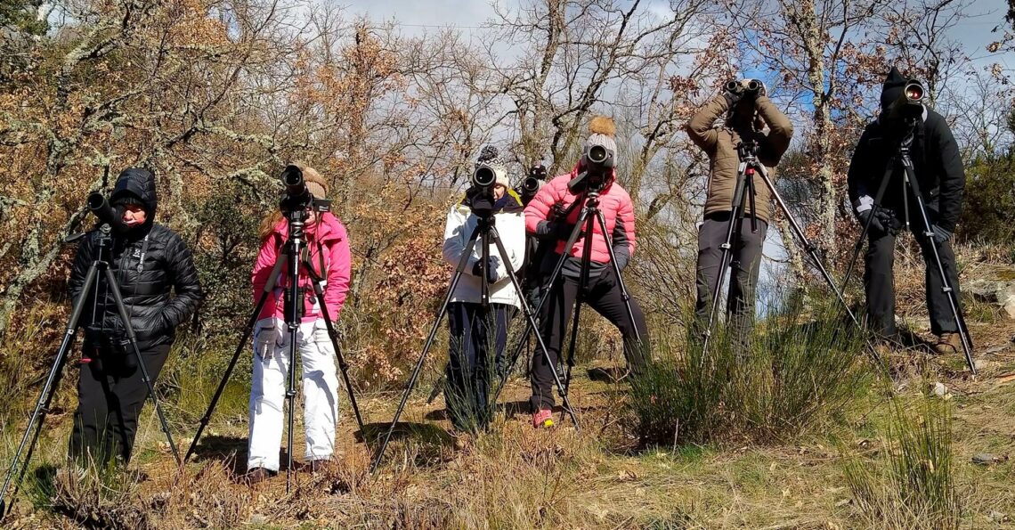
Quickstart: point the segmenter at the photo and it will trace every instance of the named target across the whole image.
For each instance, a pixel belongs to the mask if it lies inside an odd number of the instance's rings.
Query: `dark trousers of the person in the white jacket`
[[[480,304],[456,302],[448,306],[451,340],[445,403],[452,424],[459,430],[474,432],[490,422],[490,382],[503,370],[507,323],[514,310],[504,304],[490,304],[485,311]]]

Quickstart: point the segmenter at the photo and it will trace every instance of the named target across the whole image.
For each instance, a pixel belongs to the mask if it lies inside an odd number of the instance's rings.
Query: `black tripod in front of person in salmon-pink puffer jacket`
[[[579,180],[583,180],[581,176],[576,179],[576,181]],[[588,180],[588,178],[584,180]],[[620,287],[620,296],[624,301],[624,306],[627,310],[627,318],[629,318],[631,321],[631,327],[634,330],[634,337],[637,340],[639,347],[644,349],[644,345],[641,345],[641,336],[637,331],[637,326],[634,324],[634,312],[631,310],[630,294],[627,292],[627,286],[624,283],[623,278],[620,276],[620,267],[617,264],[617,257],[616,254],[614,254],[613,252],[613,245],[610,242],[610,234],[606,229],[606,217],[603,215],[602,210],[599,209],[599,194],[600,191],[598,189],[595,188],[589,189],[587,192],[585,192],[583,197],[576,200],[574,203],[571,205],[571,207],[573,208],[576,205],[582,204],[583,205],[582,210],[581,212],[579,212],[578,220],[574,223],[574,228],[571,229],[570,236],[567,238],[567,243],[564,246],[563,253],[561,253],[560,258],[557,259],[557,263],[553,268],[553,272],[550,274],[549,280],[544,283],[544,285],[547,285],[547,289],[540,297],[539,305],[536,307],[536,312],[538,314],[538,312],[542,310],[543,305],[547,303],[547,300],[549,299],[553,290],[554,282],[560,279],[560,276],[563,272],[564,264],[566,263],[567,258],[570,255],[570,250],[574,247],[574,244],[578,242],[579,237],[585,235],[587,241],[585,248],[582,250],[582,271],[580,273],[578,297],[576,299],[574,302],[574,315],[572,317],[570,343],[567,352],[567,368],[564,377],[564,386],[561,393],[561,397],[564,400],[567,399],[567,391],[570,389],[571,369],[573,369],[574,367],[574,349],[576,349],[576,344],[578,342],[578,328],[579,328],[578,325],[579,325],[579,319],[582,314],[582,303],[585,301],[585,286],[588,285],[589,283],[589,269],[592,265],[592,236],[594,234],[593,227],[594,224],[597,222],[597,220],[599,222],[599,227],[603,233],[603,238],[606,240],[606,248],[608,249],[610,254],[610,266],[613,267],[613,272],[616,274],[617,285]],[[559,215],[558,217],[564,219],[567,217],[569,213],[570,213],[569,210],[565,211],[562,213],[562,215]],[[507,376],[514,369],[515,363],[518,362],[518,358],[522,354],[522,349],[526,346],[526,344],[528,344],[529,333],[532,332],[533,330],[536,331],[535,335],[538,338],[540,345],[542,345],[543,343],[542,336],[538,331],[538,327],[536,327],[535,321],[532,321],[526,328],[525,333],[522,334],[522,337],[519,340],[518,345],[515,347],[515,352],[512,354],[511,361],[506,365],[506,369],[500,376],[500,381],[497,385],[497,390],[496,393],[494,394],[494,399],[496,399],[496,397],[499,396],[500,391],[503,389],[504,385],[506,385]],[[629,361],[630,359],[628,359],[628,362]],[[550,362],[550,368],[551,369],[553,368],[552,362]],[[570,408],[568,407],[567,410],[570,411]],[[572,413],[572,418],[573,418],[573,413]]]

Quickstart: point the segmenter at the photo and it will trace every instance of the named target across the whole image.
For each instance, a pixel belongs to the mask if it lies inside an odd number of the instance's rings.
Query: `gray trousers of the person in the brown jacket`
[[[726,233],[730,226],[730,212],[706,215],[698,229],[697,259],[697,303],[694,313],[698,325],[704,328],[712,311],[712,294],[719,281],[719,267],[722,264]],[[768,231],[768,223],[758,219],[757,231],[751,231],[750,217],[740,221],[740,229],[734,230],[731,241],[733,269],[730,274],[730,291],[726,309],[730,315],[730,333],[742,344],[754,325],[754,291],[758,272],[761,270],[761,247]],[[719,319],[719,315],[715,317]]]

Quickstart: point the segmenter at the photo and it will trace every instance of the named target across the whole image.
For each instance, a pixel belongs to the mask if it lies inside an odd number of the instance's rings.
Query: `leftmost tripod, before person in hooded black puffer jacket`
[[[94,294],[97,296],[98,294],[99,270],[101,270],[103,274],[106,276],[107,286],[113,294],[113,300],[117,306],[117,312],[120,314],[120,320],[124,323],[128,343],[130,344],[130,348],[133,350],[134,355],[137,357],[137,366],[141,371],[141,380],[144,381],[145,385],[148,387],[148,396],[151,398],[151,402],[155,405],[155,413],[158,416],[158,421],[161,424],[162,432],[165,433],[165,438],[170,442],[170,448],[173,450],[173,456],[176,457],[177,465],[183,464],[180,460],[180,452],[177,451],[177,445],[173,441],[173,435],[170,433],[170,424],[165,421],[165,415],[162,413],[162,407],[158,403],[157,396],[155,396],[155,389],[151,383],[151,378],[148,376],[148,369],[144,363],[141,350],[138,348],[137,336],[134,333],[134,328],[131,326],[130,315],[127,314],[127,308],[124,306],[124,300],[123,295],[120,293],[120,287],[117,285],[116,277],[110,269],[109,262],[103,260],[103,253],[107,249],[107,246],[111,243],[112,230],[108,223],[103,223],[98,230],[97,259],[91,262],[91,265],[88,266],[88,271],[84,275],[84,282],[82,283],[82,285],[84,285],[84,289],[78,295],[78,299],[74,303],[74,307],[71,310],[70,320],[67,322],[67,328],[64,331],[63,340],[60,343],[60,348],[57,350],[57,357],[53,362],[53,367],[50,369],[49,375],[46,377],[46,382],[43,384],[43,390],[39,394],[39,400],[36,402],[36,408],[31,412],[31,418],[28,420],[28,425],[24,430],[24,436],[21,437],[21,443],[18,445],[17,451],[14,453],[14,458],[11,460],[10,467],[7,471],[7,478],[3,483],[3,488],[0,489],[0,516],[6,513],[2,499],[7,492],[7,487],[11,484],[14,472],[17,471],[18,462],[21,461],[22,453],[25,454],[25,457],[24,461],[20,462],[21,469],[20,473],[18,473],[16,481],[14,481],[14,489],[11,493],[12,499],[17,494],[17,489],[20,487],[21,481],[24,479],[24,473],[27,471],[28,461],[31,460],[31,454],[35,452],[36,444],[39,442],[39,437],[42,434],[43,423],[46,421],[46,415],[50,412],[50,404],[53,402],[53,396],[57,393],[57,387],[59,386],[60,379],[63,375],[63,368],[67,362],[67,355],[69,354],[70,347],[74,343],[74,339],[77,336],[77,326],[78,321],[81,318],[81,312],[84,311],[84,307],[88,302],[89,295]],[[92,319],[94,320],[94,312],[92,312]],[[26,447],[27,452],[25,452]]]

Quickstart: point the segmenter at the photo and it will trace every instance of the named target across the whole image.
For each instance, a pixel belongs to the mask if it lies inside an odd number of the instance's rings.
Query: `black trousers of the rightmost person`
[[[928,212],[931,213],[930,211]],[[932,219],[933,222],[933,219]],[[918,220],[917,223],[920,223]],[[958,326],[952,315],[948,294],[941,290],[941,274],[934,262],[932,242],[923,234],[917,223],[910,223],[917,243],[924,256],[927,309],[931,314],[931,331],[935,335],[957,333]],[[865,256],[864,287],[867,291],[867,325],[875,333],[885,336],[895,334],[895,286],[892,267],[895,262],[895,233],[901,228],[901,221],[895,221],[887,234],[870,234]],[[948,242],[938,244],[941,265],[948,276],[948,283],[955,289],[955,300],[959,299],[958,270],[955,268],[955,253]]]

